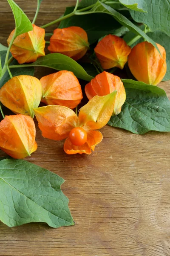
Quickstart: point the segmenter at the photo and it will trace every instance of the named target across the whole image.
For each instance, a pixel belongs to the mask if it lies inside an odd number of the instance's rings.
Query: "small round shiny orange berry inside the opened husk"
[[[81,127],[75,127],[69,134],[71,143],[75,146],[82,146],[87,141],[87,132]]]

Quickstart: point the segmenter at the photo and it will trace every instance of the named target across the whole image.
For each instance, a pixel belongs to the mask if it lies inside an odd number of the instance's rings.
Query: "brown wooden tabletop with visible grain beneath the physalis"
[[[36,24],[56,19],[75,2],[44,0]],[[16,3],[32,20],[37,1]],[[0,24],[0,42],[6,44],[14,28],[6,0],[0,0]],[[169,82],[160,87],[170,96]],[[170,134],[142,136],[109,126],[101,131],[104,139],[93,154],[69,156],[63,141],[44,139],[37,128],[38,149],[26,160],[65,179],[62,191],[76,224],[53,229],[0,223],[1,256],[170,255]]]

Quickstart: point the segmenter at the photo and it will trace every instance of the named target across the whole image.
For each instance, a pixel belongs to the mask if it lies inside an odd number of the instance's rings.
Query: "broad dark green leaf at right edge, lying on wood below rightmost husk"
[[[134,134],[147,131],[170,131],[170,101],[161,88],[143,82],[122,79],[126,101],[122,111],[112,116],[108,125]]]

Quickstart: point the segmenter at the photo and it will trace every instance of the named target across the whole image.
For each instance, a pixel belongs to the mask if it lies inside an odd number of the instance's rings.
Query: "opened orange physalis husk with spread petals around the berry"
[[[79,111],[64,106],[45,106],[34,109],[42,136],[51,140],[65,140],[64,151],[67,154],[91,154],[91,150],[102,141],[102,134],[94,131],[105,126],[113,112],[116,91],[106,96],[95,96]],[[81,128],[87,133],[87,140],[82,145],[71,143],[70,134],[74,128]],[[75,143],[77,144],[77,143]]]

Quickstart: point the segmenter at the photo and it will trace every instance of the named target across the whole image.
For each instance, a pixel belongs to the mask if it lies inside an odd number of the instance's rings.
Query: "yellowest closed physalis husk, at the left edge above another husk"
[[[34,117],[42,97],[42,85],[34,76],[14,76],[0,89],[0,101],[17,114]]]

